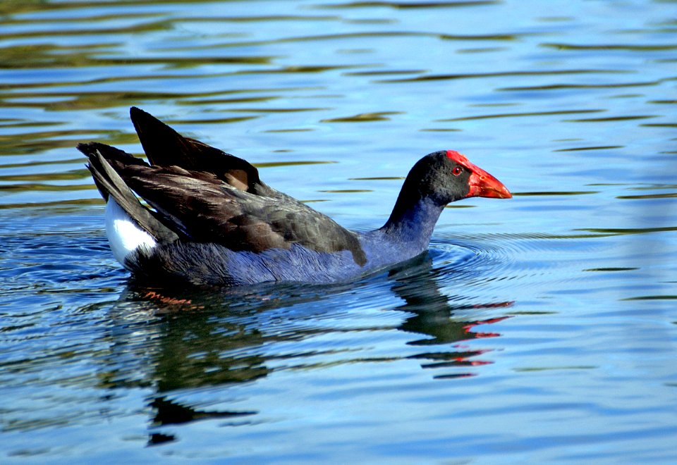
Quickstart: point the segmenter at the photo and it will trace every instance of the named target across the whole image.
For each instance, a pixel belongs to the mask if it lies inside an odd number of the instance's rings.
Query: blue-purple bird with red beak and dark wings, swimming
[[[136,107],[130,117],[150,163],[99,142],[78,149],[106,201],[115,258],[159,283],[353,280],[425,252],[446,204],[512,197],[465,156],[435,151],[411,168],[382,228],[354,232],[269,187],[248,161]]]

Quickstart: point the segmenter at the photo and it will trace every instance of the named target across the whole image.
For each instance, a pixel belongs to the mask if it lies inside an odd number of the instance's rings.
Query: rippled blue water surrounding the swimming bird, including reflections
[[[677,459],[677,3],[0,4],[0,461]],[[149,289],[75,151],[131,105],[349,228],[457,149],[510,201],[349,285]]]

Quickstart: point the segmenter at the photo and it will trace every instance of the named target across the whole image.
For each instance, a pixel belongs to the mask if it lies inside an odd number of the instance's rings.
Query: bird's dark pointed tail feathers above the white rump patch
[[[153,212],[139,202],[134,192],[125,181],[116,173],[106,159],[111,159],[125,165],[146,165],[145,161],[135,158],[124,151],[97,142],[78,144],[78,150],[90,160],[87,168],[92,173],[94,183],[106,202],[112,197],[115,202],[147,233],[158,242],[173,242],[178,235],[167,228]]]

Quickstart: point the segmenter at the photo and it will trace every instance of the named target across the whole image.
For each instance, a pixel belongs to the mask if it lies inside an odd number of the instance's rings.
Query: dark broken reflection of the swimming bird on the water
[[[329,287],[258,285],[228,290],[177,290],[130,284],[111,311],[114,320],[111,363],[116,366],[114,371],[126,373],[111,376],[109,385],[132,383],[152,387],[150,445],[176,439],[171,434],[160,433],[158,428],[161,426],[200,419],[246,423],[246,419],[255,416],[257,411],[200,407],[177,396],[176,392],[210,386],[224,390],[228,385],[242,385],[264,378],[272,371],[267,363],[273,357],[279,357],[265,347],[275,342],[303,340],[322,331],[331,332],[331,328],[314,330],[307,325],[296,330],[269,330],[270,311],[274,313],[276,309],[315,302],[317,305],[306,307],[324,311],[323,299],[341,292],[355,292],[374,280],[384,279],[403,302],[396,309],[410,314],[398,329],[415,335],[408,345],[426,349],[407,358],[420,360],[422,368],[455,370],[451,373],[439,370],[434,378],[471,376],[472,373],[459,372],[458,368],[487,363],[477,359],[484,352],[482,349],[464,348],[460,343],[477,337],[497,336],[495,333],[478,333],[473,328],[503,318],[468,320],[454,314],[508,303],[450,304],[449,297],[437,285],[432,259],[426,254],[405,266],[392,268],[386,275]],[[136,318],[130,318],[130,308],[134,309]],[[290,313],[286,317],[309,316]],[[130,367],[130,354],[138,355],[131,363],[133,367]],[[135,371],[134,375],[130,371]],[[145,375],[139,376],[139,373]]]

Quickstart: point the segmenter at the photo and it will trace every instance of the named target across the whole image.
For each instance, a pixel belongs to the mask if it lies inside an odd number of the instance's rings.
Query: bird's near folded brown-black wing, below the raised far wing
[[[118,160],[111,160],[111,166],[190,240],[250,252],[300,244],[317,252],[349,250],[356,262],[365,261],[355,233],[281,192],[275,197],[252,194],[214,173],[178,166],[125,165]]]

